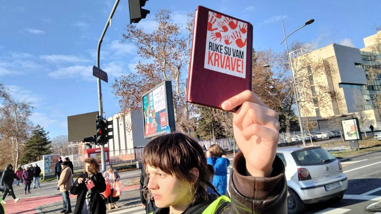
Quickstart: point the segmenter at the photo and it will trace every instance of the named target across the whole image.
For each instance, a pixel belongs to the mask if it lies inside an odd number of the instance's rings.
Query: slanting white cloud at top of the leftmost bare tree
[[[35,106],[35,107],[41,105],[44,99],[42,95],[34,94],[31,90],[24,89],[20,86],[8,85],[5,87],[9,89],[9,92],[12,95],[12,97],[18,100],[25,100],[27,102],[32,102],[32,106]]]

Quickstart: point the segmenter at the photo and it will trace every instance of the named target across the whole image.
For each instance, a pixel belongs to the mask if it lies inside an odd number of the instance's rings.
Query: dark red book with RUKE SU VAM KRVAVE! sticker
[[[223,101],[251,90],[252,47],[249,22],[198,6],[186,100],[221,109]]]

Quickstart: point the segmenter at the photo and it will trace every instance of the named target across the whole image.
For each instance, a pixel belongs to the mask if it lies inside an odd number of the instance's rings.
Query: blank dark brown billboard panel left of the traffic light
[[[83,141],[83,138],[96,134],[95,121],[98,111],[67,117],[69,142]]]

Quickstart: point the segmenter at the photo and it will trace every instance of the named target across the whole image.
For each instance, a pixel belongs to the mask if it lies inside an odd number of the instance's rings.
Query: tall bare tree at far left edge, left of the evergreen
[[[17,166],[32,129],[29,116],[34,107],[30,102],[15,100],[1,83],[0,98],[3,100],[3,107],[0,108],[0,135],[11,142],[11,151],[3,149],[2,152],[11,152],[12,161]]]

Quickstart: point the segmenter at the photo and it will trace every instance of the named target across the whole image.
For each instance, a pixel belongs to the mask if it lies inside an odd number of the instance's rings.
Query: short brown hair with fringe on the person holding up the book
[[[142,162],[144,168],[150,165],[187,182],[193,195],[190,203],[208,200],[208,186],[215,190],[209,181],[210,173],[202,147],[186,134],[175,132],[152,139],[144,147]],[[199,170],[198,178],[191,173],[192,168]]]

